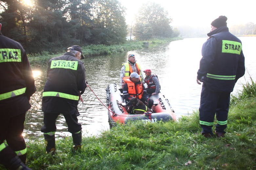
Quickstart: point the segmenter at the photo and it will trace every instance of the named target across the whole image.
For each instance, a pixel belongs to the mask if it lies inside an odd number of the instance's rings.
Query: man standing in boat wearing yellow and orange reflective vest
[[[144,84],[144,77],[140,68],[140,65],[136,62],[135,55],[129,54],[128,61],[122,64],[121,72],[120,72],[120,86],[123,89],[123,77],[130,76],[131,73],[136,72],[140,76],[140,81]]]

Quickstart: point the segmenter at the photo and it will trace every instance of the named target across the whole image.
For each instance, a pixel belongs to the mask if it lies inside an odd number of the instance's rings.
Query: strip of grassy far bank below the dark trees
[[[153,48],[155,46],[159,46],[161,44],[165,44],[167,42],[181,40],[181,37],[174,37],[174,38],[166,38],[166,39],[153,39],[147,40],[149,42],[149,48]],[[145,42],[145,41],[144,41]],[[106,55],[106,54],[113,54],[119,53],[124,51],[131,51],[131,50],[139,50],[144,48],[143,41],[127,41],[124,44],[119,45],[88,45],[83,46],[82,51],[83,55],[87,57],[98,56],[98,55]],[[66,49],[59,52],[58,54],[50,54],[48,51],[43,51],[37,54],[28,54],[28,58],[32,67],[38,66],[45,66],[47,65],[49,59],[60,56]]]

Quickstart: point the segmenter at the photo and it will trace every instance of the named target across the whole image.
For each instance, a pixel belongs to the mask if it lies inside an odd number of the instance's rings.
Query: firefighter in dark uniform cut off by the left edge
[[[26,111],[31,108],[29,100],[36,90],[32,69],[21,44],[1,31],[0,51],[0,164],[9,169],[29,169],[22,132]]]

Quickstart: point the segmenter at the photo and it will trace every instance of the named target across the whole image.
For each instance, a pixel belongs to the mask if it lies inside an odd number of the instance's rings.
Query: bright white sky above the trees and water
[[[126,22],[135,22],[135,14],[144,3],[155,2],[167,10],[172,26],[210,26],[220,15],[227,17],[227,26],[256,24],[255,0],[119,0],[126,7]]]

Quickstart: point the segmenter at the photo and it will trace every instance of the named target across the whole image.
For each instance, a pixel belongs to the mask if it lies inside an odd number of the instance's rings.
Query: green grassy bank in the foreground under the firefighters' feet
[[[45,153],[43,137],[31,139],[27,164],[32,169],[74,170],[256,169],[256,85],[251,81],[231,100],[224,138],[204,138],[195,111],[178,122],[113,127],[83,138],[77,153],[69,137],[57,140],[54,156]]]

